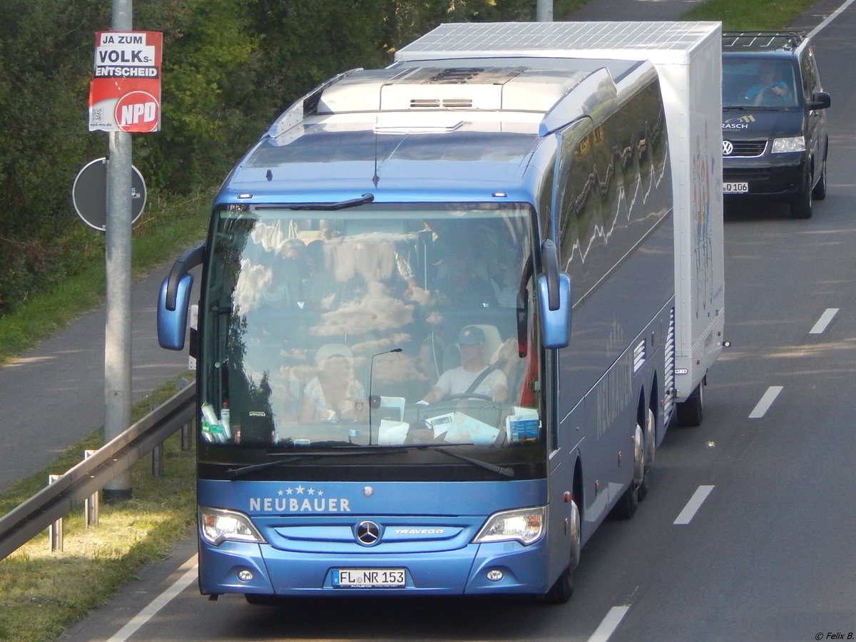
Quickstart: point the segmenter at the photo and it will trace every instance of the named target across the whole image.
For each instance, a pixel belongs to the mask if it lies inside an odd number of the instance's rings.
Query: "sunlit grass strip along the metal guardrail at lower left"
[[[188,375],[186,375],[188,377]],[[134,406],[133,420],[175,394],[178,377]],[[97,449],[102,431],[74,444],[49,469],[21,480],[0,496],[7,513],[45,486],[48,473],[64,473],[84,449]],[[193,452],[182,451],[180,435],[163,444],[163,477],[152,477],[151,455],[132,469],[134,497],[101,503],[98,526],[86,528],[83,508],[63,520],[62,553],[52,553],[46,533],[0,562],[0,639],[41,642],[63,631],[106,602],[137,570],[162,559],[169,546],[192,532],[195,523]]]

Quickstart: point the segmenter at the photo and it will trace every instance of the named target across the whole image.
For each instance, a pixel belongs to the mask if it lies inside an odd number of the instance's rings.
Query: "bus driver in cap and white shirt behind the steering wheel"
[[[417,401],[419,405],[441,401],[454,395],[484,396],[492,401],[505,401],[508,383],[505,373],[484,363],[484,332],[475,325],[466,325],[458,334],[461,366],[440,375],[428,394]]]

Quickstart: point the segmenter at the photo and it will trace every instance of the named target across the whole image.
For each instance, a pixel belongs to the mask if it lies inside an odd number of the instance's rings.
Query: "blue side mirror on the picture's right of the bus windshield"
[[[553,241],[541,245],[541,259],[544,272],[538,275],[538,301],[544,348],[565,348],[571,335],[571,277],[559,271]]]

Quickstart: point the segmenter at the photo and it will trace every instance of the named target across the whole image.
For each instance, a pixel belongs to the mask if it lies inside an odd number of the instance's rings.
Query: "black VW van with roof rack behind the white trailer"
[[[795,32],[722,33],[722,189],[784,200],[811,217],[826,196],[829,134],[811,42]]]

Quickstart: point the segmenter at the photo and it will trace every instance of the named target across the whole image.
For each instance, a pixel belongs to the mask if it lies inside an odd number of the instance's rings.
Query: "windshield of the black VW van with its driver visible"
[[[794,66],[785,60],[724,56],[722,107],[796,107],[799,93]]]

